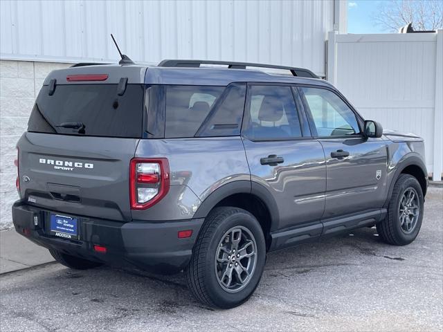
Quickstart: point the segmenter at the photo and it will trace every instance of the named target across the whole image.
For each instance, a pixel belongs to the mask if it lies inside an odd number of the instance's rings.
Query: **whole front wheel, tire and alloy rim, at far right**
[[[377,223],[381,239],[396,246],[414,241],[422,227],[423,208],[422,187],[417,179],[401,174],[395,183],[386,219]]]

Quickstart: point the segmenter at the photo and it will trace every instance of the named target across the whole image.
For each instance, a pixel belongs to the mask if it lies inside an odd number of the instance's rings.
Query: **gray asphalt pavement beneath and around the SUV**
[[[443,189],[409,246],[375,228],[268,255],[251,299],[202,306],[183,275],[48,263],[0,276],[0,331],[442,331]]]

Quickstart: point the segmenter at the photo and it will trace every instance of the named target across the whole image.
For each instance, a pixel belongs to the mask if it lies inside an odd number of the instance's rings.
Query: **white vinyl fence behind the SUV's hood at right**
[[[327,79],[368,119],[422,136],[433,180],[443,170],[443,30],[329,33]]]

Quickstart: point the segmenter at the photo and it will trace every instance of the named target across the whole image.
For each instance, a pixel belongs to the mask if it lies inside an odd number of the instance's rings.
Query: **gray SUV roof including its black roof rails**
[[[224,65],[224,67],[201,66],[202,64]],[[246,67],[252,68],[245,69]],[[260,68],[287,70],[291,75],[266,73]],[[208,60],[163,60],[158,66],[147,64],[77,64],[71,68],[51,72],[46,77],[44,84],[49,84],[51,79],[57,80],[57,84],[69,84],[66,82],[66,75],[100,73],[107,73],[109,78],[105,82],[94,84],[118,84],[121,77],[128,77],[128,84],[226,86],[233,82],[257,82],[332,86],[329,82],[318,79],[318,76],[306,68]],[[75,84],[87,83],[76,82]]]

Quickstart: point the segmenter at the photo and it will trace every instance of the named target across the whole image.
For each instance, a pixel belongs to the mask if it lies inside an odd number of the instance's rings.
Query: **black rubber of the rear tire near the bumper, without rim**
[[[251,241],[255,241],[255,269],[248,274],[248,282],[244,282],[240,289],[229,293],[219,282],[219,273],[217,273],[217,255],[224,250],[220,250],[219,246],[228,243],[226,234],[230,230],[242,229],[244,234],[253,235]],[[235,230],[233,232],[235,232]],[[233,235],[234,237],[234,235]],[[250,244],[250,243],[249,243]],[[226,244],[228,246],[228,244]],[[245,248],[246,246],[244,246]],[[231,247],[230,252],[232,253]],[[237,255],[239,250],[237,250]],[[230,255],[227,254],[226,255]],[[224,257],[224,253],[222,253]],[[228,258],[231,256],[228,256]],[[232,207],[215,208],[206,217],[205,223],[201,228],[197,242],[192,253],[190,263],[185,268],[184,273],[188,281],[188,286],[201,303],[214,308],[233,308],[246,302],[251,297],[255,288],[257,288],[260,278],[264,270],[266,261],[266,244],[264,241],[263,231],[255,217],[246,210]],[[249,261],[248,261],[249,262]],[[226,263],[223,263],[226,264]],[[229,265],[230,262],[227,264]],[[239,266],[243,266],[238,261]],[[232,266],[232,264],[230,264]],[[251,264],[247,264],[251,266]],[[237,264],[235,264],[237,266]],[[235,268],[232,268],[232,270]],[[226,266],[226,270],[228,267]],[[236,272],[233,270],[231,275],[233,279],[237,279]],[[245,279],[246,279],[245,278]],[[221,277],[223,279],[223,277]],[[239,281],[239,279],[237,279]]]

